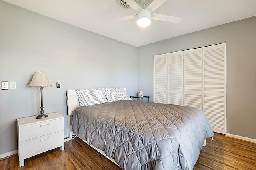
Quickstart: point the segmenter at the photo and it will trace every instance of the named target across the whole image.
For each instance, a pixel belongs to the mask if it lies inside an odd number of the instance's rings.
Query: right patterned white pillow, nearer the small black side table
[[[124,88],[103,88],[106,98],[108,99],[108,102],[114,102],[118,100],[131,100],[128,95],[126,94],[126,91]]]

